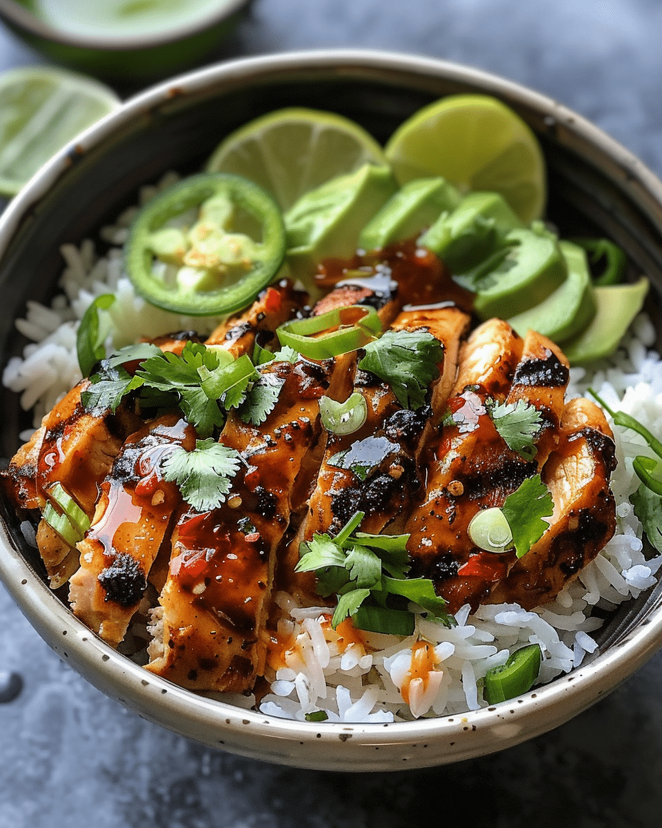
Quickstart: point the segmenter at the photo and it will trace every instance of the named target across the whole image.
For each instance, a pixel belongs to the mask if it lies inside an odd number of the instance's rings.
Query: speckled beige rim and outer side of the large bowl
[[[122,125],[176,94],[218,86],[235,89],[278,73],[361,74],[400,81],[444,79],[470,84],[553,118],[564,125],[568,146],[587,142],[613,162],[628,182],[628,197],[662,227],[662,182],[619,143],[578,113],[520,84],[442,60],[366,50],[318,50],[233,60],[181,75],[137,95],[76,139],[77,152],[98,147]],[[12,200],[0,219],[0,258],[31,209],[70,167],[72,147],[55,156]],[[620,172],[619,172],[620,171]],[[626,189],[626,184],[622,184]],[[631,676],[662,646],[660,596],[651,599],[639,626],[586,665],[549,685],[463,715],[392,724],[307,723],[196,696],[115,652],[75,619],[31,569],[2,527],[0,577],[27,619],[55,652],[95,686],[143,717],[204,744],[252,758],[304,768],[395,770],[427,767],[492,753],[542,734],[584,710]]]

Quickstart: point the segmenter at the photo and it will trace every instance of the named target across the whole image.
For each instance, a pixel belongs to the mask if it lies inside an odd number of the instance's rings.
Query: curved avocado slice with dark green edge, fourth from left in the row
[[[473,306],[482,319],[510,319],[540,305],[568,275],[557,238],[543,224],[511,230],[506,243],[511,246],[496,267],[479,267],[474,280]]]

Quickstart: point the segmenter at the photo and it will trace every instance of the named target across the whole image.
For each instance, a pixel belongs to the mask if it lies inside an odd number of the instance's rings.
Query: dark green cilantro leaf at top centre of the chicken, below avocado
[[[426,330],[387,330],[364,349],[366,355],[358,363],[362,371],[388,383],[405,408],[425,405],[429,385],[439,377],[444,359],[438,339]]]

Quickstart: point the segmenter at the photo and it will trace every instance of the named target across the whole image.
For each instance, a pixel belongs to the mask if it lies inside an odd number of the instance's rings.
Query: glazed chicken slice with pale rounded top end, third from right
[[[406,522],[411,574],[431,579],[450,612],[465,597],[477,601],[483,589],[472,579],[458,579],[458,568],[473,550],[467,532],[473,515],[501,505],[537,469],[535,460],[508,449],[485,406],[488,398],[505,402],[523,347],[510,325],[489,320],[460,349],[444,427],[429,445],[425,497]],[[466,596],[474,586],[476,595]]]

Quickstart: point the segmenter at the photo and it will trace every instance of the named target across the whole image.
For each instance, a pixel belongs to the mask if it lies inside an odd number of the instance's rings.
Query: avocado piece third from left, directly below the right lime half
[[[435,253],[453,274],[466,273],[504,248],[504,236],[522,227],[498,193],[469,193],[450,213],[443,213],[420,237],[421,247]]]

